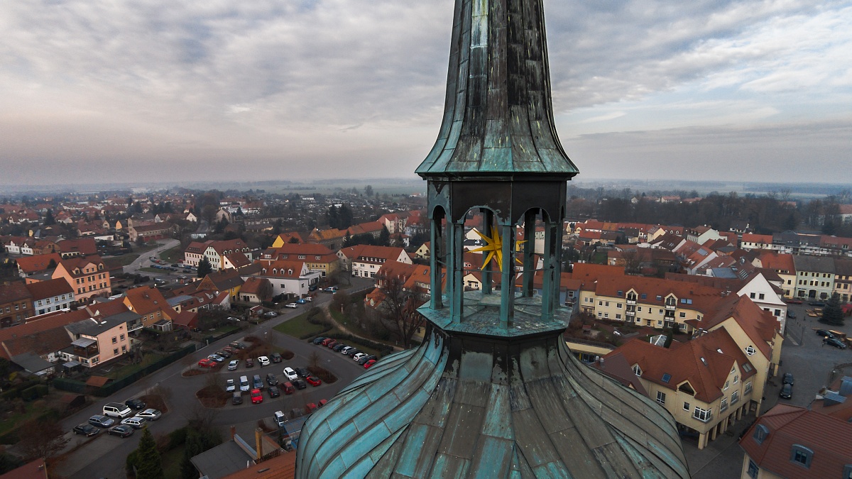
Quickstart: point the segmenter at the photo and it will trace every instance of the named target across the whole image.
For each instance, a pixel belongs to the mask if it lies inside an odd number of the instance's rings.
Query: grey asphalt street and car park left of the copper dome
[[[331,300],[331,294],[321,293],[314,300],[314,304],[322,304]],[[73,414],[71,417],[64,419],[61,424],[65,430],[72,430],[76,424],[84,423],[93,414],[100,414],[101,407],[107,402],[124,402],[130,397],[143,395],[146,390],[155,386],[167,388],[168,406],[170,413],[164,414],[158,421],[151,423],[150,428],[155,436],[164,435],[171,430],[181,428],[187,424],[187,419],[193,417],[201,411],[210,411],[213,419],[212,423],[222,427],[222,436],[227,437],[227,429],[230,425],[239,425],[240,432],[254,430],[258,419],[271,418],[272,413],[278,410],[289,412],[293,407],[301,407],[307,402],[317,402],[320,399],[330,399],[336,395],[343,387],[351,383],[354,378],[357,378],[364,372],[364,368],[348,358],[348,356],[340,355],[330,349],[314,346],[305,341],[291,338],[285,334],[274,331],[272,328],[290,320],[296,315],[301,315],[304,312],[304,307],[300,309],[287,310],[282,315],[279,315],[274,320],[269,320],[262,325],[253,326],[246,334],[266,338],[270,343],[273,343],[281,348],[290,349],[295,356],[290,361],[283,361],[279,364],[272,364],[266,367],[256,366],[248,370],[238,370],[236,372],[221,372],[220,378],[222,384],[226,378],[239,378],[241,374],[261,374],[265,377],[267,372],[273,372],[279,379],[282,377],[284,366],[308,366],[308,358],[314,352],[320,355],[323,366],[334,372],[337,375],[337,382],[334,384],[322,384],[319,387],[308,386],[308,389],[297,391],[295,395],[281,395],[279,398],[270,399],[268,395],[264,395],[262,404],[250,404],[248,397],[245,397],[244,403],[239,406],[228,404],[221,409],[205,410],[200,407],[199,401],[195,398],[195,391],[208,384],[209,375],[199,375],[190,378],[183,378],[181,372],[188,367],[193,366],[197,361],[209,355],[210,353],[221,349],[231,341],[239,339],[239,336],[231,336],[223,338],[216,343],[199,349],[193,355],[188,355],[186,359],[177,361],[170,366],[164,367],[162,370],[153,373],[146,378],[142,378],[119,391],[118,393],[96,401],[95,404],[85,407],[83,411]],[[253,424],[253,425],[252,425]],[[77,444],[84,443],[76,451],[69,454],[68,459],[55,468],[56,474],[66,476],[72,479],[89,479],[91,477],[124,477],[124,459],[135,447],[137,447],[141,434],[135,434],[126,439],[120,439],[117,436],[107,436],[99,434],[94,439],[86,440],[83,436],[74,436],[72,433],[67,433],[72,437],[72,443],[68,449]]]

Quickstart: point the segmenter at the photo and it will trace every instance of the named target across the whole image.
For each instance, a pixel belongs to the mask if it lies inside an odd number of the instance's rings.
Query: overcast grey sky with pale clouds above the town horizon
[[[412,176],[453,0],[3,0],[0,184]],[[544,0],[581,178],[852,182],[852,0]]]

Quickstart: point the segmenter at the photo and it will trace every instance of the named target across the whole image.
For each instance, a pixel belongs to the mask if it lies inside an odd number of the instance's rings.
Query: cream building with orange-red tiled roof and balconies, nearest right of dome
[[[763,384],[734,339],[724,329],[666,349],[632,339],[604,356],[623,355],[648,397],[675,418],[679,430],[698,435],[706,447],[748,410]]]

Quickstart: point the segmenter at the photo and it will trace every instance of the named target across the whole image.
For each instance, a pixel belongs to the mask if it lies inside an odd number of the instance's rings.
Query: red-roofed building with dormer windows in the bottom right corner
[[[852,477],[852,423],[779,404],[740,438],[740,477]]]

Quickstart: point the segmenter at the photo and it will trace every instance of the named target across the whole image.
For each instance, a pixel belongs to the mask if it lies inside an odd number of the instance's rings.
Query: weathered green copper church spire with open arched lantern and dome
[[[578,170],[549,82],[542,0],[456,0],[444,121],[417,168],[432,228],[425,341],[308,418],[296,476],[689,476],[671,414],[580,364],[562,338],[561,227]],[[479,270],[463,264],[469,211],[501,240],[503,266],[486,265],[481,291],[463,284]]]

